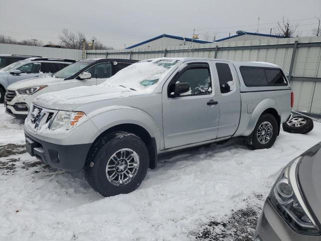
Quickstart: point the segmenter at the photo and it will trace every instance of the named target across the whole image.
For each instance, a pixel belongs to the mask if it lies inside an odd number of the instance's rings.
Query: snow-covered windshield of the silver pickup
[[[136,91],[152,91],[179,62],[175,59],[155,59],[138,62],[120,70],[101,86],[122,86]]]

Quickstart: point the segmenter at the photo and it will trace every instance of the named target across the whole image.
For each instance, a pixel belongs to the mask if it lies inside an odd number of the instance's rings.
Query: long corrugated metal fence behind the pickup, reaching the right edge
[[[297,43],[295,44],[295,42]],[[297,46],[295,48],[295,46]],[[321,37],[264,39],[198,44],[189,54],[189,46],[144,48],[139,50],[88,50],[87,58],[149,59],[158,57],[204,57],[236,61],[262,61],[292,72],[294,107],[299,111],[321,114]],[[295,56],[292,61],[293,49]],[[217,50],[217,51],[216,51]],[[291,65],[292,63],[292,65]],[[292,71],[291,71],[292,67]]]

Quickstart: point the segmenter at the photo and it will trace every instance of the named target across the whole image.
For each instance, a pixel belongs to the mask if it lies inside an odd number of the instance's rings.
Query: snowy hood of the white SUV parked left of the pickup
[[[62,80],[64,80],[64,79],[55,78],[55,77],[51,77],[51,76],[47,75],[47,76],[43,76],[43,77],[36,77],[36,78],[18,81],[16,83],[9,85],[8,89],[9,90],[17,90],[17,89],[21,89],[21,88],[27,88],[27,87],[43,85],[43,84],[44,85],[54,85],[54,84],[58,84]]]

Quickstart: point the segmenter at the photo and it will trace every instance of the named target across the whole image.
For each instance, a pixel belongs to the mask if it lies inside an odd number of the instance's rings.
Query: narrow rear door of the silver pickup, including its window
[[[232,136],[239,125],[241,93],[235,67],[230,62],[213,61],[214,78],[219,83],[219,128],[217,138]]]

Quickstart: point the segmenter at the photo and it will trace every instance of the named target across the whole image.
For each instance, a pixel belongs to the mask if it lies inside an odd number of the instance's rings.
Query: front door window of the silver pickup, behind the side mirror
[[[182,93],[181,96],[212,93],[212,83],[209,68],[187,69],[176,80],[176,82],[187,82],[190,85],[190,91]]]

